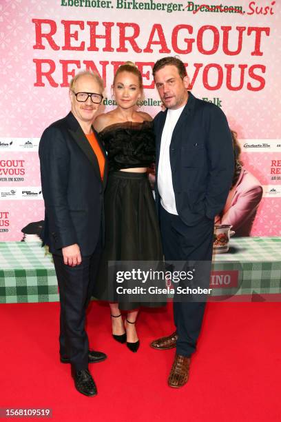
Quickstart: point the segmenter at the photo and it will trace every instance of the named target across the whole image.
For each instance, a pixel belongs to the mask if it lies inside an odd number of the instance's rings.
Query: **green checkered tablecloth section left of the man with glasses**
[[[41,242],[0,243],[0,303],[59,301],[52,255]]]

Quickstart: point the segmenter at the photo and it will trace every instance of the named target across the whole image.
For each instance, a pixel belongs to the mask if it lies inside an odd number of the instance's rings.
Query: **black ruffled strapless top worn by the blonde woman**
[[[107,150],[110,171],[149,167],[155,161],[152,121],[113,123],[98,135]]]

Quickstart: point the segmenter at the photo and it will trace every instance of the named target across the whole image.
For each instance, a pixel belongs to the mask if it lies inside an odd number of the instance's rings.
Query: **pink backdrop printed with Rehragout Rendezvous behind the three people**
[[[223,0],[222,0],[223,1]],[[105,81],[101,111],[124,61],[143,74],[141,110],[160,111],[152,66],[178,55],[191,90],[227,114],[245,167],[263,186],[251,234],[280,236],[280,4],[278,1],[1,0],[0,239],[43,219],[38,145],[70,109],[79,70]]]

